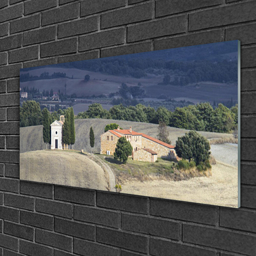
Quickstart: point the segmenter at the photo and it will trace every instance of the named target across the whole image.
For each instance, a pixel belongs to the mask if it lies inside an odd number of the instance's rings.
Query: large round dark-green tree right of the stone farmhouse
[[[205,163],[210,157],[210,144],[207,139],[195,131],[190,131],[176,141],[175,151],[177,156],[194,160],[196,165]]]

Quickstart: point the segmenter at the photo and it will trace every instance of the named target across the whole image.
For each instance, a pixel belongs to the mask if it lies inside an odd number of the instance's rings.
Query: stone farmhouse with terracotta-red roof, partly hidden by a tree
[[[156,162],[157,157],[177,159],[174,146],[150,137],[141,132],[132,131],[132,127],[122,130],[118,127],[100,136],[100,154],[113,155],[119,138],[125,137],[132,145],[132,159],[136,161]]]

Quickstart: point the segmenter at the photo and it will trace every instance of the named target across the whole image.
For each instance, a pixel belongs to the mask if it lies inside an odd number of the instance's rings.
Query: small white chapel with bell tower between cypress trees
[[[51,149],[62,150],[62,126],[65,122],[65,116],[60,116],[60,121],[55,120],[51,124]]]

